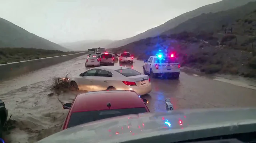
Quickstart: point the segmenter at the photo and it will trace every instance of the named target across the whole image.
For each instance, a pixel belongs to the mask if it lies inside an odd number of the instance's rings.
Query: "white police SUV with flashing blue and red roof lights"
[[[180,63],[172,53],[170,56],[164,57],[162,54],[158,56],[150,56],[144,61],[143,73],[149,74],[153,78],[166,76],[167,78],[180,76]]]

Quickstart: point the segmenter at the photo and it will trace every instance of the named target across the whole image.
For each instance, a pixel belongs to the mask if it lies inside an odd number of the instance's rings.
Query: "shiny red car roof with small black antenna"
[[[115,90],[81,93],[72,103],[72,112],[146,107],[136,92]]]

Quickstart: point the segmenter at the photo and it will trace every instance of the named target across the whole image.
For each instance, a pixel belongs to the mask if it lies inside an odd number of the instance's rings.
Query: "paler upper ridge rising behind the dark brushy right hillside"
[[[184,13],[178,17],[175,17],[175,18],[167,21],[166,23],[159,25],[158,27],[147,30],[144,33],[138,34],[131,38],[113,42],[110,45],[107,45],[106,48],[120,47],[120,46],[129,44],[134,41],[138,41],[138,40],[145,39],[148,37],[154,37],[154,36],[157,36],[165,31],[169,30],[169,29],[176,27],[177,25],[187,21],[188,19],[199,16],[202,13],[209,13],[209,12],[215,13],[215,12],[219,12],[219,11],[225,11],[225,10],[229,10],[231,8],[245,5],[250,1],[256,1],[256,0],[223,0],[220,2],[216,2],[214,4],[206,5],[206,6],[197,8],[196,10]]]

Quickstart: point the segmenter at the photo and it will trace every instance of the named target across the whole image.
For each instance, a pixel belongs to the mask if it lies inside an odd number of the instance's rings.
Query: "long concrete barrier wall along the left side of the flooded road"
[[[3,64],[0,65],[0,80],[13,78],[14,76],[49,67],[51,65],[62,63],[85,54],[87,54],[87,52]]]

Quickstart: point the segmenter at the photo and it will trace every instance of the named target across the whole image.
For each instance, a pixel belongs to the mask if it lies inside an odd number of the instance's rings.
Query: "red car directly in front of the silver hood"
[[[94,91],[76,95],[73,103],[66,103],[69,109],[62,129],[101,119],[149,112],[146,99],[135,91]]]

